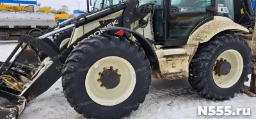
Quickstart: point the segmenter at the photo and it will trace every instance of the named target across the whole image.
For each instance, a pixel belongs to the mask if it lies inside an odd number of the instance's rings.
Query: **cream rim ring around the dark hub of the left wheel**
[[[116,88],[107,89],[101,87],[99,72],[104,72],[104,68],[113,67],[118,69],[120,83]],[[102,58],[90,67],[85,79],[85,88],[89,97],[102,106],[115,106],[124,102],[131,95],[136,85],[136,74],[131,63],[124,58],[108,56]]]

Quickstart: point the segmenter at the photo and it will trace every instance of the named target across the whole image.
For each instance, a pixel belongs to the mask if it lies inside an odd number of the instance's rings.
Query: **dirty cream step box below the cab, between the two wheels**
[[[168,80],[188,78],[189,58],[185,49],[157,49],[156,54],[161,74],[152,72],[152,77]]]

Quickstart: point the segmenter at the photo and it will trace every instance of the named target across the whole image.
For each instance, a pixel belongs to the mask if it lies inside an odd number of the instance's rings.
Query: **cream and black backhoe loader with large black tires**
[[[250,46],[239,35],[255,16],[250,0],[95,2],[100,10],[70,25],[19,37],[0,68],[0,118],[18,118],[60,77],[77,113],[122,118],[144,102],[152,78],[188,79],[201,97],[228,100],[252,73]],[[47,39],[67,29],[61,46]],[[39,66],[17,63],[26,47],[47,57]]]

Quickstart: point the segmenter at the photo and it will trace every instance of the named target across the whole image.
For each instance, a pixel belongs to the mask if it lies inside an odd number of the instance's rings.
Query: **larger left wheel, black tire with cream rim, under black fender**
[[[83,40],[68,56],[63,91],[86,118],[122,118],[144,102],[150,75],[150,63],[136,44],[99,35]]]

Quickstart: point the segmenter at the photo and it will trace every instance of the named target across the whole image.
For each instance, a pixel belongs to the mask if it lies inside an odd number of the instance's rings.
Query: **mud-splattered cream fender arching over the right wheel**
[[[244,26],[237,24],[227,17],[214,16],[211,21],[200,26],[189,36],[187,44],[200,44],[208,42],[216,34],[228,30],[238,30],[249,33],[249,30],[244,28]]]

